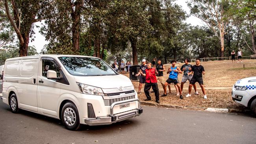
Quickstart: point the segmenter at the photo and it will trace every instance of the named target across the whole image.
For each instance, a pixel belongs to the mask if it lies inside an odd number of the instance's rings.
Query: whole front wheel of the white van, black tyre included
[[[74,103],[66,103],[61,110],[61,120],[69,130],[77,130],[80,127],[79,114]]]

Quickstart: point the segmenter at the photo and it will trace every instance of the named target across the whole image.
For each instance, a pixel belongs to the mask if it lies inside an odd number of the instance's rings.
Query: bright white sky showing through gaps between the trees
[[[186,11],[187,14],[189,14],[190,9],[187,7],[186,4],[187,0],[176,0],[175,3],[182,6],[182,8]],[[203,26],[203,22],[194,16],[190,16],[189,18],[187,18],[186,20],[187,23],[191,24],[192,26]],[[35,23],[37,26],[41,27],[41,22],[37,22]],[[48,44],[48,41],[45,41],[45,37],[43,35],[41,35],[39,33],[40,28],[35,28],[35,41],[33,42],[29,42],[29,46],[35,46],[35,48],[37,49],[37,52],[40,53],[41,50],[43,49],[43,47],[45,46],[45,44]]]

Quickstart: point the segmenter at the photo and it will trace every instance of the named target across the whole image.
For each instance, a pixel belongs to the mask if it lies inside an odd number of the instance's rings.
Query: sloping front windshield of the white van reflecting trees
[[[106,76],[117,73],[104,61],[92,57],[58,57],[74,76]]]

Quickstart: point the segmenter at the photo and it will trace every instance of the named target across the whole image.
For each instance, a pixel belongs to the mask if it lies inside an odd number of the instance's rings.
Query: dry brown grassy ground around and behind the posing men
[[[177,63],[178,67],[181,67],[184,63]],[[191,63],[191,65],[195,65],[195,63]],[[207,100],[204,100],[202,91],[198,89],[199,95],[193,94],[195,91],[192,88],[191,97],[186,98],[186,94],[188,93],[188,81],[184,84],[184,90],[182,91],[182,95],[184,99],[181,100],[178,96],[176,96],[176,90],[174,90],[174,85],[171,84],[171,94],[169,93],[167,97],[160,96],[161,104],[167,105],[179,105],[179,106],[187,106],[187,107],[215,107],[215,108],[231,108],[231,109],[244,109],[243,105],[240,105],[232,100],[231,96],[231,88],[230,89],[211,89],[211,87],[232,87],[234,83],[238,79],[256,76],[256,59],[245,59],[243,63],[232,63],[229,60],[224,61],[208,61],[201,62],[201,65],[204,66],[205,75],[204,86],[209,90],[206,90]],[[170,64],[164,65],[167,70]],[[244,68],[245,67],[245,68]],[[129,77],[129,73],[126,72],[125,76]],[[165,80],[169,75],[164,72]],[[178,80],[181,82],[183,74],[178,75]],[[132,81],[136,91],[138,91],[139,82]],[[198,83],[196,84],[197,88],[200,88]],[[163,94],[163,87],[161,83],[158,81],[158,88],[160,95]],[[141,89],[141,94],[138,95],[141,101],[144,101],[146,96],[144,93],[144,85]],[[167,89],[167,92],[169,90]],[[154,93],[150,93],[152,100],[150,102],[155,103]]]

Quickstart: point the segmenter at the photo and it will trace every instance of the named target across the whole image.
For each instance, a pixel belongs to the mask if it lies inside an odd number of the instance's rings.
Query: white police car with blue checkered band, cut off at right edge
[[[232,88],[232,99],[256,114],[256,76],[237,80]]]

